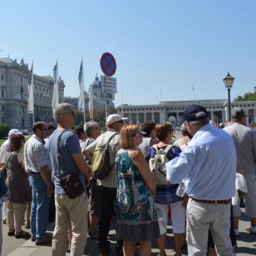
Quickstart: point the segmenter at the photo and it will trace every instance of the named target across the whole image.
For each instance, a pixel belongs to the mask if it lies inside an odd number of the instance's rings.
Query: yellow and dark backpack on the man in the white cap
[[[114,166],[110,165],[109,143],[116,134],[113,134],[106,143],[96,145],[92,159],[92,176],[95,179],[105,179]]]

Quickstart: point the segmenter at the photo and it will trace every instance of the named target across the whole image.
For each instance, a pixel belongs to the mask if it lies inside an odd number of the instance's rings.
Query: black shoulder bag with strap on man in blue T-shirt
[[[64,130],[65,132],[67,130]],[[61,135],[63,134],[61,132],[60,136],[58,137],[58,145],[57,145],[57,158],[58,158],[58,170],[59,170],[59,179],[60,179],[60,186],[63,188],[65,193],[68,195],[69,198],[74,199],[79,195],[82,195],[84,193],[84,187],[81,183],[81,180],[79,179],[79,173],[70,173],[65,175],[65,177],[61,178],[60,175],[60,139]]]

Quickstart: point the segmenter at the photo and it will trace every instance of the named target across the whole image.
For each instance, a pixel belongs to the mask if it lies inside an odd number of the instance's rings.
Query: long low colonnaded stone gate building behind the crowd
[[[200,104],[207,110],[208,116],[217,125],[228,120],[228,100],[184,100],[163,101],[156,105],[129,105],[123,106],[124,117],[128,118],[129,124],[142,124],[152,120],[156,123],[164,121],[172,122],[179,126],[184,122],[184,110],[192,104]],[[243,108],[246,111],[247,122],[256,122],[256,101],[231,102],[231,108]],[[122,115],[122,106],[117,108],[118,114]]]

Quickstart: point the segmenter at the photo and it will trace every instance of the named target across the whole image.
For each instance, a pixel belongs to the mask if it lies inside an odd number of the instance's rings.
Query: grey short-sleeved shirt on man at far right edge
[[[243,174],[255,175],[253,149],[256,149],[256,132],[245,125],[234,123],[225,127],[236,146],[237,160],[241,163]]]

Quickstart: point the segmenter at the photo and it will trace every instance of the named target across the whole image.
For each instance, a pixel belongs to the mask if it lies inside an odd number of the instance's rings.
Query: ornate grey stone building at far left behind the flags
[[[12,128],[30,129],[33,122],[28,114],[28,64],[11,58],[0,58],[0,122]],[[35,122],[52,122],[52,92],[54,79],[51,76],[34,74]],[[63,102],[65,84],[59,79],[60,102]]]

